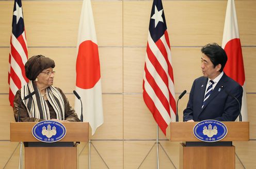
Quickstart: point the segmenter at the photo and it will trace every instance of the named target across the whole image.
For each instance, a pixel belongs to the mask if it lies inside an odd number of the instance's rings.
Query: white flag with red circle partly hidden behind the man
[[[246,89],[245,89],[245,70],[241,42],[239,39],[239,30],[235,11],[234,0],[228,0],[225,26],[223,31],[222,48],[228,55],[228,61],[224,72],[239,83],[244,89],[242,98],[242,120],[248,121]]]

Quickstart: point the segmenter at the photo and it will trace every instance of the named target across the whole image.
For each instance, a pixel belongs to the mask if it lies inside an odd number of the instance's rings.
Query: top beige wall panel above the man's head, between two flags
[[[167,1],[163,5],[171,45],[221,44],[225,1]]]

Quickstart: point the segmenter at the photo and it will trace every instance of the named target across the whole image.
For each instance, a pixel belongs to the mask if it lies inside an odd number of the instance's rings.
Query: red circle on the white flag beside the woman
[[[92,41],[84,41],[79,45],[76,58],[76,86],[91,89],[100,77],[98,45]]]

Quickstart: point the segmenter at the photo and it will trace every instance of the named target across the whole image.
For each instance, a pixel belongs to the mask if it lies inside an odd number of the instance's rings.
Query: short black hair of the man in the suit
[[[221,46],[219,46],[217,43],[209,43],[201,48],[201,52],[210,58],[214,67],[221,64],[221,69],[219,72],[223,71],[228,57],[225,50]]]

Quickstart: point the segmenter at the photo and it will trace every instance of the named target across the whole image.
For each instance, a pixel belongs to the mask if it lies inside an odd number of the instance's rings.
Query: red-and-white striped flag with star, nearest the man
[[[161,0],[154,0],[144,67],[143,99],[164,134],[171,119],[176,116],[174,96],[171,50],[164,9]]]

